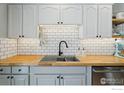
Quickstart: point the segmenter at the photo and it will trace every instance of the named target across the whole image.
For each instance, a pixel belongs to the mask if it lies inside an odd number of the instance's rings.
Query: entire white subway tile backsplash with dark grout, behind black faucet
[[[40,44],[39,39],[0,38],[0,59],[13,55],[57,55],[59,42],[65,40],[66,48],[62,44],[64,55],[79,55],[85,49],[87,55],[113,55],[115,40],[113,38],[79,39],[79,27],[76,25],[45,25],[42,26],[45,43]]]

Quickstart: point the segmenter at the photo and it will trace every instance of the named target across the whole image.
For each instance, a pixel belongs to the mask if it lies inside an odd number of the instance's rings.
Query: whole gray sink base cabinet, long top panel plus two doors
[[[86,67],[31,67],[30,85],[85,85]]]

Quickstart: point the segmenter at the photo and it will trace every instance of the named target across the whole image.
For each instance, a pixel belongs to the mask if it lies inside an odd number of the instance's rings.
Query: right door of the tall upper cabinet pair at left
[[[37,37],[38,7],[23,5],[23,35],[26,38]]]

